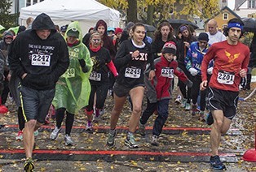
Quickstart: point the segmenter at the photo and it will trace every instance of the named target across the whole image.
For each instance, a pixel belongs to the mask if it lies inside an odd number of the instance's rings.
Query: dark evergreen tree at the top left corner
[[[11,0],[0,1],[0,24],[5,28],[15,26],[18,15],[11,15]]]

